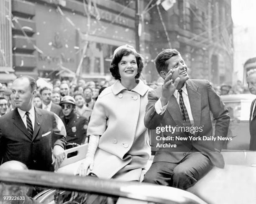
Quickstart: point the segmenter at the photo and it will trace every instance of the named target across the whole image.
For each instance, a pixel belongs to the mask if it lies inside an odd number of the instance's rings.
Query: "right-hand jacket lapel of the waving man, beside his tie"
[[[186,87],[195,127],[199,127],[201,120],[201,94],[197,92],[198,86],[190,80],[186,82]]]

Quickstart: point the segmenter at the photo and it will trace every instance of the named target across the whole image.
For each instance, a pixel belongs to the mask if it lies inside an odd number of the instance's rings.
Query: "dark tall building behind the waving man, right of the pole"
[[[218,85],[232,83],[233,21],[231,0],[169,0],[167,11],[150,10],[151,55],[169,44],[179,50],[194,79],[208,79]],[[161,12],[161,16],[159,15]],[[153,18],[154,16],[154,18]],[[169,36],[161,22],[164,22]]]

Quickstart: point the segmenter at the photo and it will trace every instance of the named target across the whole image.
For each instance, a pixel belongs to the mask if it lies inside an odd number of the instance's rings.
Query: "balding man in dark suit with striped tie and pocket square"
[[[66,130],[54,113],[33,106],[36,80],[18,77],[12,85],[15,109],[0,117],[0,163],[17,160],[28,169],[51,171],[66,155]]]

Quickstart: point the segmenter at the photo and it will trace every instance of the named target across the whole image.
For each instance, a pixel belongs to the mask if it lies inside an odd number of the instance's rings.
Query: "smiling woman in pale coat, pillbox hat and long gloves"
[[[151,88],[138,79],[143,65],[143,58],[132,46],[114,51],[110,72],[117,81],[103,90],[95,103],[87,129],[87,155],[77,170],[80,176],[140,179],[151,155],[143,121]]]

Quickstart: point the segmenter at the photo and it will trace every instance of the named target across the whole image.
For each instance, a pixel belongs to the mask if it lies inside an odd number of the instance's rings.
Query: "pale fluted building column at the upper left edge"
[[[11,0],[0,0],[0,67],[12,67]]]

